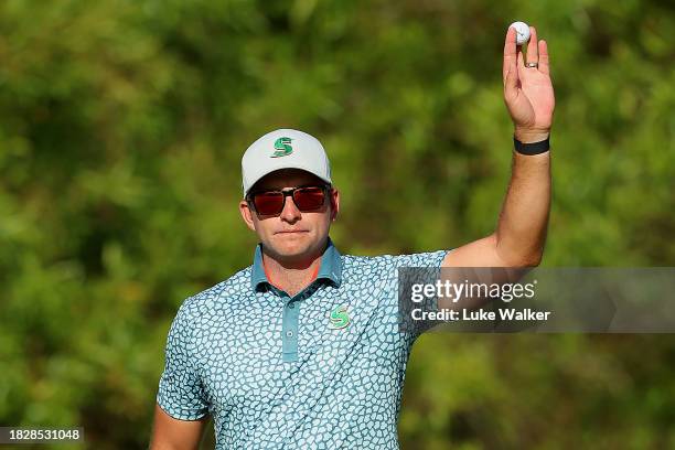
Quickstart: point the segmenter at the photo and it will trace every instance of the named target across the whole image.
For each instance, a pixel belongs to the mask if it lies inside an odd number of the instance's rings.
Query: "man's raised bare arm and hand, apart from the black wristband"
[[[514,124],[514,137],[523,143],[549,137],[555,108],[546,41],[537,41],[529,28],[527,63],[510,28],[504,43],[504,103]],[[513,152],[511,182],[496,229],[490,236],[448,254],[443,267],[537,266],[544,254],[550,210],[550,151],[525,156]]]

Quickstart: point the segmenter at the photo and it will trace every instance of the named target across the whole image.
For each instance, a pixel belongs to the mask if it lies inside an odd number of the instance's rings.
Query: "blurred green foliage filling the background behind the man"
[[[147,444],[179,304],[250,264],[239,160],[269,130],[323,141],[343,253],[491,233],[515,20],[556,88],[544,265],[675,265],[668,2],[0,2],[0,425]],[[674,361],[669,335],[425,335],[401,444],[674,447]]]

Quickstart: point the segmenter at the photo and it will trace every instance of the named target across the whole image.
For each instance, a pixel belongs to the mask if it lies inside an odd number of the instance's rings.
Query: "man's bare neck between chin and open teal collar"
[[[322,255],[323,251],[300,260],[283,261],[274,258],[262,249],[262,267],[267,280],[292,297],[317,278]]]

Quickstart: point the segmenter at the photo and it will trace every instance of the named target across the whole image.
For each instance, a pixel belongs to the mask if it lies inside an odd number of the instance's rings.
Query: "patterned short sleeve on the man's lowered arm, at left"
[[[179,309],[167,339],[164,372],[157,404],[171,417],[196,420],[208,411],[202,379],[196,371],[193,333],[196,323],[190,313],[190,299]]]

